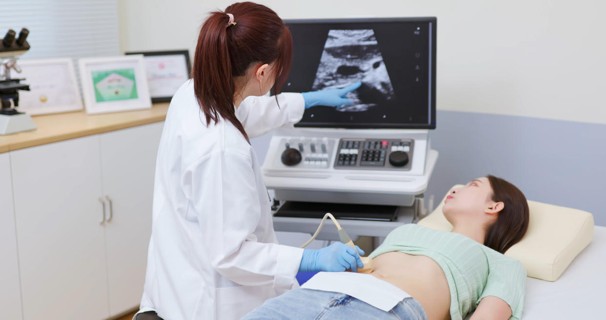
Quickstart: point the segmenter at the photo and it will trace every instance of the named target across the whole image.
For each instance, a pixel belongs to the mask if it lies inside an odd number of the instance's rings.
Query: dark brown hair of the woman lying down
[[[488,227],[484,245],[500,253],[505,253],[526,234],[530,210],[526,197],[520,189],[493,175],[489,174],[486,177],[493,189],[491,199],[503,202],[505,207],[499,212],[496,221]]]

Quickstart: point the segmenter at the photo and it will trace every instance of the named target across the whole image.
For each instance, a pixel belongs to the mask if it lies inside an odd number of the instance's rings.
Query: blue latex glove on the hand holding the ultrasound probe
[[[360,256],[364,251],[357,245]],[[345,271],[351,269],[358,272],[358,268],[364,267],[362,260],[356,251],[345,243],[335,242],[328,247],[319,250],[305,249],[299,265],[299,272],[306,271]]]

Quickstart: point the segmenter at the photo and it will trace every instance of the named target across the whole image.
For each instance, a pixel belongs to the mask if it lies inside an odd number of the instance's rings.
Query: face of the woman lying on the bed
[[[471,180],[461,188],[450,191],[445,200],[442,212],[444,216],[454,225],[458,219],[485,217],[484,211],[491,206],[492,188],[487,177]],[[482,220],[476,220],[482,221]]]

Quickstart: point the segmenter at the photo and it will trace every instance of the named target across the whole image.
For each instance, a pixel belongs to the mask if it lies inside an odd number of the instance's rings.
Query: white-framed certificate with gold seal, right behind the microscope
[[[18,60],[30,90],[19,91],[18,110],[29,115],[79,111],[82,97],[72,58]]]

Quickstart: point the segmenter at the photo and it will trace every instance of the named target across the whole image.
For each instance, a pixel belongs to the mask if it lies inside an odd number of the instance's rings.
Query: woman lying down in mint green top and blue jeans
[[[370,257],[370,274],[321,272],[242,319],[519,319],[526,271],[503,255],[528,228],[528,203],[488,175],[453,189],[451,232],[402,225]]]

